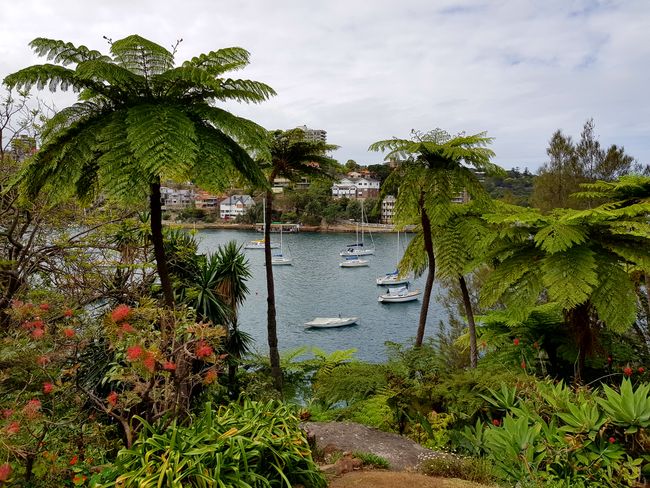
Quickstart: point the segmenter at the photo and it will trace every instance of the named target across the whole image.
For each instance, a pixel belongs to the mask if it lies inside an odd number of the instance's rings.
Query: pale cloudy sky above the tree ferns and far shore
[[[535,171],[556,130],[579,138],[589,118],[602,145],[650,163],[648,0],[2,3],[0,78],[46,62],[28,46],[36,37],[102,52],[103,36],[169,48],[182,38],[179,63],[240,46],[251,64],[233,77],[277,96],[227,108],[267,129],[324,129],[341,163],[381,163],[371,143],[442,128],[486,131],[495,163]]]

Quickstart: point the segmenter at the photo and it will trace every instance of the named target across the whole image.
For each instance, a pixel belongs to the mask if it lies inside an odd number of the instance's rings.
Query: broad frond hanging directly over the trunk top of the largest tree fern
[[[196,161],[197,138],[192,121],[178,108],[137,105],[126,116],[127,140],[148,181],[189,175]]]

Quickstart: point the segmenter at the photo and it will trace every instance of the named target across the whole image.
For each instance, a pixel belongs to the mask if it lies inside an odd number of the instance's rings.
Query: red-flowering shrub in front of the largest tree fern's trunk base
[[[189,412],[198,387],[212,384],[221,372],[222,358],[214,350],[225,331],[197,323],[190,309],[120,304],[101,325],[112,359],[101,384],[81,388],[118,423],[127,446],[140,427],[135,416],[154,422]]]

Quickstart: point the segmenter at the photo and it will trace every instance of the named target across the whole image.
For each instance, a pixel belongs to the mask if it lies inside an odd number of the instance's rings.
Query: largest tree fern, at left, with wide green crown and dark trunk
[[[48,123],[42,146],[19,184],[28,197],[90,200],[100,191],[127,201],[149,198],[151,233],[167,306],[174,304],[162,236],[160,183],[194,181],[218,191],[234,169],[256,185],[264,177],[254,157],[264,155],[265,131],[215,106],[258,103],[275,92],[256,81],[225,78],[244,68],[249,53],[231,47],[177,66],[175,49],[138,35],[109,41],[103,55],[85,46],[38,38],[30,46],[55,64],[7,76],[9,88],[72,88],[77,103]]]

